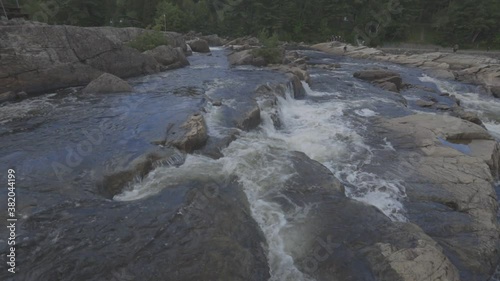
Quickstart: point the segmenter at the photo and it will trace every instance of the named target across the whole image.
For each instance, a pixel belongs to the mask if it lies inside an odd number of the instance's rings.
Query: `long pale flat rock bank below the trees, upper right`
[[[471,52],[418,52],[399,54],[395,49],[387,51],[357,47],[342,43],[320,43],[313,49],[354,58],[398,63],[425,69],[430,75],[448,80],[480,85],[485,93],[500,97],[500,60]],[[409,53],[410,52],[410,53]]]

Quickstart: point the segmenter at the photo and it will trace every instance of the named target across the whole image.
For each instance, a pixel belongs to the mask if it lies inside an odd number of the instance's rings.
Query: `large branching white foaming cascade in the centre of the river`
[[[336,95],[334,92],[314,92],[309,87],[306,87],[306,92],[310,96]],[[397,179],[384,179],[362,171],[362,166],[372,161],[373,149],[344,114],[350,106],[358,107],[360,103],[294,100],[287,93],[286,99],[278,99],[282,129],[277,130],[273,126],[271,112],[263,111],[261,130],[242,132],[224,149],[223,158],[214,160],[190,155],[184,165],[178,168],[160,167],[115,199],[138,200],[168,186],[197,179],[219,181],[236,175],[247,195],[252,216],[267,240],[270,280],[313,280],[297,269],[293,257],[285,250],[282,238],[282,231],[290,226],[290,221],[306,218],[308,209],[297,207],[295,211],[285,213],[279,204],[268,199],[271,194],[279,196],[281,190],[286,188],[287,179],[296,173],[289,157],[291,151],[304,152],[344,182],[352,184],[353,188],[346,188],[347,196],[378,207],[393,220],[406,220],[401,204],[401,199],[405,197],[404,187]],[[220,136],[220,130],[224,130],[220,126],[224,117],[219,110],[208,107],[205,115],[212,137]],[[376,115],[365,107],[361,107],[357,114],[366,118]],[[382,149],[393,150],[387,141]]]

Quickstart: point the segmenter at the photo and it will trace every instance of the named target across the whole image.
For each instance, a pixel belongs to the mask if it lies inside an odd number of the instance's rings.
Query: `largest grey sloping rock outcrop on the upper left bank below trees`
[[[86,85],[103,72],[127,78],[160,69],[151,56],[94,28],[0,26],[0,50],[0,93],[45,92]]]

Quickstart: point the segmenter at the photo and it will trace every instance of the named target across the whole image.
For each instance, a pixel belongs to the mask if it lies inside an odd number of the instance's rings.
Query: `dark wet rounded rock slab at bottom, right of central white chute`
[[[391,222],[375,207],[346,198],[333,174],[303,153],[289,157],[296,173],[282,194],[269,194],[268,200],[294,221],[282,232],[285,249],[303,273],[318,281],[459,280],[443,249],[422,229]],[[302,208],[306,217],[294,219]]]

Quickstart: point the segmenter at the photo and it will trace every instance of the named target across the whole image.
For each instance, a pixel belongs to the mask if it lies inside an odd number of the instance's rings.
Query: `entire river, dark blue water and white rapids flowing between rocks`
[[[269,280],[315,280],[295,263],[301,245],[285,235],[293,224],[307,219],[317,203],[294,205],[287,199],[286,183],[297,174],[292,161],[296,152],[326,167],[345,186],[347,197],[375,206],[394,222],[405,222],[405,179],[380,168],[396,151],[372,130],[378,118],[416,111],[436,114],[415,101],[428,95],[450,104],[438,94],[448,92],[464,108],[477,112],[491,134],[500,139],[500,100],[477,94],[473,85],[431,78],[414,68],[302,51],[310,57],[310,65],[340,63],[342,67],[334,71],[311,68],[311,83],[303,83],[306,96],[294,99],[288,87],[275,107],[262,110],[260,127],[239,131],[236,140],[221,151],[223,157],[180,153],[179,163],[157,167],[112,198],[103,196],[97,187],[102,177],[150,149],[152,141],[163,137],[168,123],[201,111],[209,137],[221,139],[235,130],[231,120],[251,106],[258,85],[287,81],[274,71],[231,68],[226,52],[213,48],[212,56],[189,57],[191,65],[186,68],[130,79],[133,93],[83,95],[71,88],[0,108],[0,170],[14,168],[18,175],[22,279],[16,280],[137,280],[139,274],[147,276],[143,280],[187,280],[155,279],[161,276],[159,268],[165,268],[163,274],[196,276],[198,269],[186,265],[193,263],[188,252],[198,255],[200,249],[212,248],[204,244],[205,238],[186,234],[187,228],[168,225],[181,212],[190,192],[206,183],[214,183],[217,194],[233,192],[226,191],[228,185],[241,188],[248,206],[236,204],[228,210],[224,204],[214,204],[203,209],[206,216],[224,213],[220,216],[227,216],[223,219],[226,224],[237,224],[240,212],[244,216],[245,208],[250,210],[252,223],[258,227],[246,231],[255,231],[255,237],[261,234],[261,242],[267,245],[262,249]],[[435,92],[405,90],[405,107],[401,96],[352,77],[367,64],[396,71],[405,82]],[[213,106],[211,100],[222,100],[224,106]],[[273,123],[273,114],[279,116],[280,126]],[[276,198],[290,201],[292,207],[285,208]],[[0,203],[2,209],[4,205]],[[4,212],[0,219],[6,219]],[[252,223],[245,227],[252,228]],[[190,238],[179,242],[176,235]],[[229,239],[225,243],[236,243],[231,237],[245,239],[243,234],[229,235],[224,236]],[[255,240],[247,245],[254,256],[258,251],[252,247],[259,245],[258,238]],[[0,240],[0,249],[6,248],[6,241]],[[212,251],[224,256],[217,249]],[[155,257],[186,261],[161,262]],[[181,269],[169,269],[172,264],[181,264]]]

